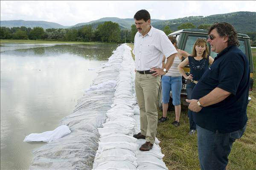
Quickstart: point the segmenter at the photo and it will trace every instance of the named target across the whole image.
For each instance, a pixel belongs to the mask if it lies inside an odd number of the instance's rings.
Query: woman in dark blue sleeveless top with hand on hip
[[[191,99],[192,90],[194,89],[195,84],[197,84],[204,72],[208,69],[209,64],[212,65],[213,63],[213,58],[208,56],[209,49],[207,46],[207,41],[204,38],[198,38],[193,46],[192,55],[182,61],[178,66],[178,70],[187,80],[186,91],[188,99]],[[186,65],[189,65],[190,68],[189,75],[186,75],[183,70]],[[188,110],[188,116],[189,135],[193,135],[195,134],[195,122],[193,121],[190,110]]]

